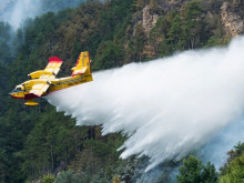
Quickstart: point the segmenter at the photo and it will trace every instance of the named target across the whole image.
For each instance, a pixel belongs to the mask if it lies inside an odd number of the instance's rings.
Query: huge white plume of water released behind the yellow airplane
[[[146,155],[149,171],[181,160],[242,119],[243,50],[244,38],[236,38],[227,48],[131,63],[93,73],[93,82],[47,99],[78,125],[102,124],[104,135],[128,134],[121,157]]]

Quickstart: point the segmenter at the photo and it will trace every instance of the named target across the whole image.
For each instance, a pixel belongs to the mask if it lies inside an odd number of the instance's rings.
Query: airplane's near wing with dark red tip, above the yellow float
[[[38,82],[32,85],[32,89],[28,94],[24,95],[26,100],[33,99],[33,98],[40,98],[48,89],[50,84],[47,82]]]

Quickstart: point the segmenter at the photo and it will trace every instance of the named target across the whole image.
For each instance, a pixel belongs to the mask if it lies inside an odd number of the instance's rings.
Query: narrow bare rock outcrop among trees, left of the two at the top
[[[159,14],[151,14],[149,6],[145,6],[145,8],[142,10],[142,27],[146,35],[149,35],[151,29],[156,24],[157,19]]]

